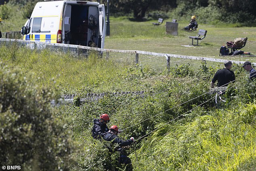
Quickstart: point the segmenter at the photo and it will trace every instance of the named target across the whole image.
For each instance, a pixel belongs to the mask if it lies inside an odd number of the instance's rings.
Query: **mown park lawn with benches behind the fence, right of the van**
[[[166,20],[168,21],[168,20]],[[197,31],[187,32],[183,30],[188,22],[178,22],[178,36],[166,34],[165,23],[160,26],[152,25],[152,22],[134,22],[128,18],[110,19],[110,36],[105,39],[106,49],[141,50],[148,52],[159,52],[168,54],[180,54],[190,56],[202,56],[213,58],[224,58],[229,60],[250,60],[256,62],[255,57],[219,57],[220,46],[227,41],[233,41],[237,37],[248,37],[244,52],[256,54],[256,29],[255,27],[234,27],[235,25],[206,25],[200,24],[198,29],[208,31],[206,38],[200,46],[184,47],[191,44],[188,36],[195,36]]]

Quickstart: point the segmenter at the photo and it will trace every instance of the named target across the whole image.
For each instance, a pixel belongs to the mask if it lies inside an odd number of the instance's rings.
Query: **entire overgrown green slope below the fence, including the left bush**
[[[227,102],[216,105],[215,94],[207,92],[218,67],[207,62],[197,69],[185,62],[171,66],[170,72],[152,72],[143,66],[113,64],[111,59],[99,58],[95,53],[88,58],[73,58],[70,54],[38,53],[15,45],[9,52],[4,46],[0,51],[4,52],[0,53],[1,146],[6,154],[2,163],[25,163],[30,170],[47,169],[42,166],[47,162],[55,168],[51,170],[125,170],[117,162],[118,152],[108,152],[109,144],[90,135],[92,120],[108,113],[109,125],[122,129],[122,138],[133,136],[137,140],[138,161],[133,148],[127,151],[134,170],[256,167],[256,81],[250,81],[239,65],[232,68],[236,82],[222,97]],[[52,77],[58,74],[54,83]],[[78,99],[88,92],[107,90],[145,93],[109,93],[99,101],[50,107],[50,99],[57,99],[59,90],[76,93]],[[45,139],[40,141],[40,137]],[[16,148],[21,148],[19,153]],[[51,153],[44,149],[51,149]],[[40,156],[48,158],[38,159],[38,150],[42,151]],[[50,157],[57,158],[48,160]]]

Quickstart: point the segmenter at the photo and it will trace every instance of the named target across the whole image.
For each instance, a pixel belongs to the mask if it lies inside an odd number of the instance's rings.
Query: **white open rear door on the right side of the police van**
[[[99,5],[99,48],[104,48],[105,32],[106,32],[106,22],[105,22],[105,7],[104,4]],[[100,43],[101,42],[101,43]]]

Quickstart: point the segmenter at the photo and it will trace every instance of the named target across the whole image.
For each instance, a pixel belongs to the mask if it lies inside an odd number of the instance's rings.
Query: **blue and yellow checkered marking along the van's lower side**
[[[32,37],[29,35],[24,35],[23,39],[31,40],[31,41],[42,41],[42,42],[57,42],[57,35],[33,35]]]

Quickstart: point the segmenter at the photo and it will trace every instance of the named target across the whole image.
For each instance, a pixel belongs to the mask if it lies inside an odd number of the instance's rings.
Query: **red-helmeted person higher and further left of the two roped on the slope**
[[[100,119],[93,120],[92,137],[94,139],[101,139],[102,134],[109,131],[107,123],[109,123],[109,115],[106,113],[102,114]]]

